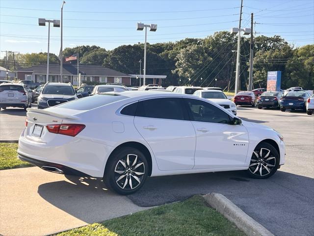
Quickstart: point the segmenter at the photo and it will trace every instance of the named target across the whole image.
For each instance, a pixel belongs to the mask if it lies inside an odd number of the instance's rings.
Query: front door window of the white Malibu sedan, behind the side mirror
[[[229,115],[214,105],[198,99],[184,98],[184,100],[191,120],[220,124],[230,123]]]

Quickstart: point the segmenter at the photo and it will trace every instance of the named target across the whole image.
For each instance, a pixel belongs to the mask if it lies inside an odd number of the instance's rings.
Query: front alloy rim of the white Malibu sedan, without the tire
[[[261,148],[253,151],[249,165],[249,171],[253,175],[259,177],[267,176],[272,172],[273,168],[276,168],[276,157],[273,156],[269,149]]]

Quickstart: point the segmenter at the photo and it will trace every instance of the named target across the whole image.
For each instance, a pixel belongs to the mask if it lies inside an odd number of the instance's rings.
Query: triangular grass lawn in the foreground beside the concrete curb
[[[56,236],[245,236],[201,196],[65,231]]]

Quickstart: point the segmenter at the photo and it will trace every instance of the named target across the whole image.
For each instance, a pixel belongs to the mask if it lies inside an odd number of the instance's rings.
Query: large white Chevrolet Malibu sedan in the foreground
[[[103,177],[109,189],[131,194],[153,176],[247,170],[267,178],[285,163],[285,145],[275,130],[207,99],[125,91],[28,109],[18,156],[46,171]]]

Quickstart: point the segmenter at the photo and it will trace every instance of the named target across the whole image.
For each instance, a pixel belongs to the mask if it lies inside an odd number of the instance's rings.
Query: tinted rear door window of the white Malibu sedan
[[[161,119],[187,119],[186,110],[183,109],[182,98],[167,97],[154,98],[138,102],[137,117]]]

